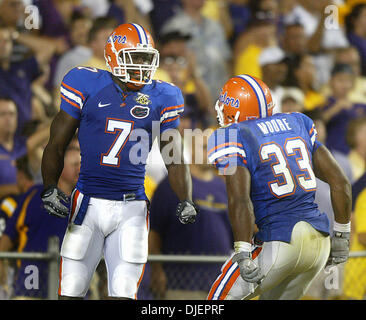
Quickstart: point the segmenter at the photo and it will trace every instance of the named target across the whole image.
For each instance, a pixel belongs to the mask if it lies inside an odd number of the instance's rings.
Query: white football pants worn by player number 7
[[[148,255],[146,201],[90,198],[81,225],[75,224],[83,195],[74,194],[61,247],[58,294],[84,297],[104,255],[111,297],[136,299]]]

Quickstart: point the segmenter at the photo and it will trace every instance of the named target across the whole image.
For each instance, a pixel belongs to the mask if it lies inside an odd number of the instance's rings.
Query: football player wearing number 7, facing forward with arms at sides
[[[102,255],[109,296],[136,299],[148,255],[145,162],[155,136],[161,136],[162,151],[169,146],[179,154],[168,163],[170,153],[162,152],[181,201],[179,220],[192,223],[197,214],[175,130],[184,109],[182,93],[173,84],[152,80],[159,53],[151,35],[137,24],[118,26],[106,43],[105,59],[110,72],[76,67],[65,75],[60,112],[42,159],[44,206],[50,214],[65,217],[68,197],[57,182],[65,149],[78,130],[81,168],[61,248],[61,299],[85,297]]]

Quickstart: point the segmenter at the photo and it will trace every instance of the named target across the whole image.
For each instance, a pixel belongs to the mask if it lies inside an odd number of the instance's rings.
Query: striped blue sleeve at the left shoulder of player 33
[[[208,140],[207,150],[208,161],[221,174],[231,167],[247,167],[247,154],[239,131],[234,127],[216,130]]]

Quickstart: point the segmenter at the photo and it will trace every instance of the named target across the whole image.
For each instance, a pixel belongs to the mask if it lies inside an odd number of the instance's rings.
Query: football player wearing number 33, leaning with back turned
[[[267,85],[249,75],[229,79],[216,102],[221,128],[208,160],[225,175],[234,252],[210,300],[299,299],[327,262],[348,258],[350,183],[310,118],[273,107]],[[332,231],[314,203],[315,177],[330,186]]]

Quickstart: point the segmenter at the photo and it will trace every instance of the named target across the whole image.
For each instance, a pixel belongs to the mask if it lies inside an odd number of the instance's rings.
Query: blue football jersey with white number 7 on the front
[[[61,84],[61,109],[80,120],[81,168],[77,189],[88,196],[147,199],[145,164],[153,139],[179,125],[180,89],[154,80],[123,91],[108,71],[76,67]]]

